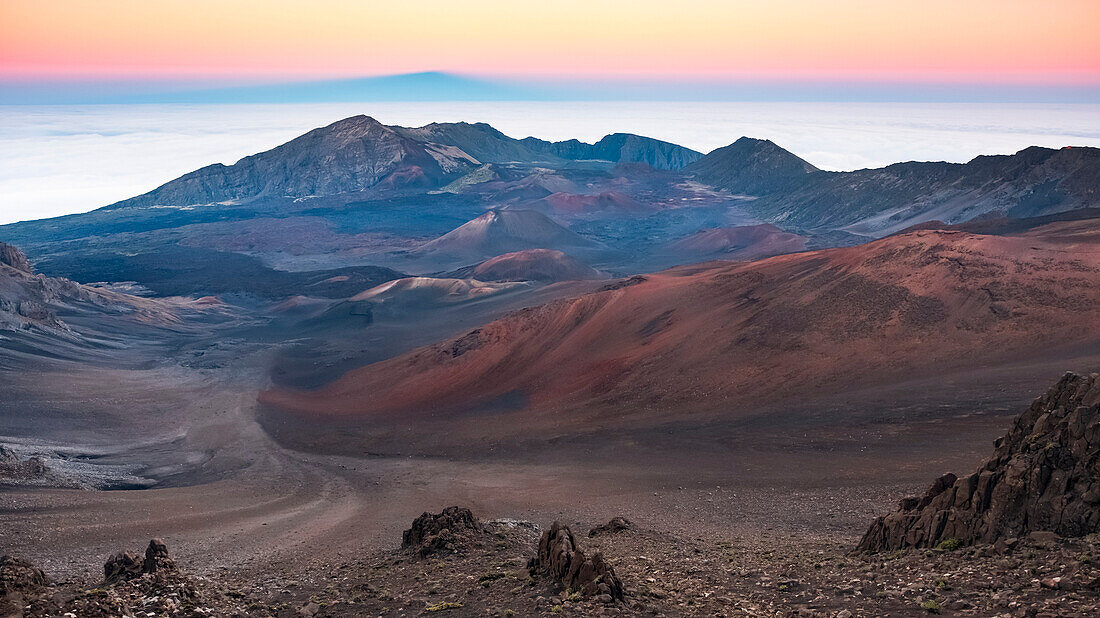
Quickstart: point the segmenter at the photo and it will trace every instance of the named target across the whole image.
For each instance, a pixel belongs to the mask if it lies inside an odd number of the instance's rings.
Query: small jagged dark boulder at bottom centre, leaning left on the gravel
[[[623,600],[623,582],[600,552],[591,556],[576,544],[568,526],[554,521],[539,539],[539,553],[527,564],[532,576],[548,574],[565,589],[605,603]]]

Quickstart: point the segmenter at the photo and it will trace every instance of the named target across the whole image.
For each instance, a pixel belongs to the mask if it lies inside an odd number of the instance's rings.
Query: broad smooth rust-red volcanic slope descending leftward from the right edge
[[[299,415],[413,421],[519,394],[529,429],[746,409],[1100,341],[1096,239],[916,231],[638,280],[518,311],[319,391],[262,399]]]

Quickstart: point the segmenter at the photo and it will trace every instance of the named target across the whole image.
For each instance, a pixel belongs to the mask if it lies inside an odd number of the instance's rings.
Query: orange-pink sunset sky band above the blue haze
[[[0,0],[0,77],[1100,84],[1100,0]]]

